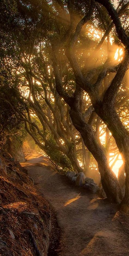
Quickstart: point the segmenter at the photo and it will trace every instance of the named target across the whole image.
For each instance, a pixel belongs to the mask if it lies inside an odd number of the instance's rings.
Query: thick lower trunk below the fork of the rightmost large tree
[[[111,97],[111,96],[110,96]],[[124,160],[125,168],[125,196],[121,202],[121,209],[124,212],[129,211],[129,132],[122,124],[114,106],[112,106],[109,98],[105,98],[105,104],[101,109],[96,111],[107,125],[108,129],[115,138],[119,152]]]

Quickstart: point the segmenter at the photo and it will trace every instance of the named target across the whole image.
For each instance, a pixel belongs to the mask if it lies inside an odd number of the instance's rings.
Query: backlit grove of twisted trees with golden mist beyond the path
[[[99,171],[107,198],[126,212],[128,7],[128,1],[4,0],[0,9],[2,145],[5,133],[22,137],[25,129],[64,171]],[[119,154],[118,180],[112,168]]]

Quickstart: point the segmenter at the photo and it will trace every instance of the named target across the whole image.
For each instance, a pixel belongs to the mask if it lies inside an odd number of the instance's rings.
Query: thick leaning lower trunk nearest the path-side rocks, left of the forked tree
[[[73,125],[80,132],[85,146],[93,154],[98,163],[102,186],[107,198],[120,203],[123,198],[121,186],[116,175],[109,167],[106,151],[99,137],[96,136],[92,127],[85,122],[84,117],[75,107],[70,109],[70,117]]]

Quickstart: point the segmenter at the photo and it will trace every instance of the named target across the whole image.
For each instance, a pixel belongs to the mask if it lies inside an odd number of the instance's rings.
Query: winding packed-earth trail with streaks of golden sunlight
[[[42,155],[27,154],[28,169],[39,194],[56,212],[61,229],[60,256],[128,256],[128,215],[118,206],[70,184]],[[53,256],[53,255],[51,255]]]

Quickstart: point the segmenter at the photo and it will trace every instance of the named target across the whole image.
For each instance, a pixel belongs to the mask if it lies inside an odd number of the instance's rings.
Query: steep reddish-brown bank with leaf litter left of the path
[[[46,256],[51,214],[27,170],[0,154],[0,255]]]

